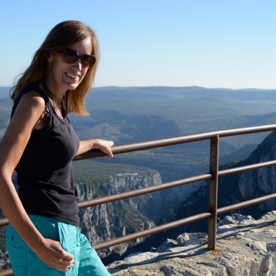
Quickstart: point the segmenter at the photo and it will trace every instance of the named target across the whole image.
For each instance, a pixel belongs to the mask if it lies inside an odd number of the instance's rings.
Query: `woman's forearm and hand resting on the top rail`
[[[110,140],[103,140],[103,139],[89,139],[89,140],[81,140],[79,141],[79,148],[76,153],[77,155],[80,155],[84,152],[87,152],[93,148],[100,149],[104,153],[107,154],[109,158],[113,157],[111,147],[114,145],[113,141]]]

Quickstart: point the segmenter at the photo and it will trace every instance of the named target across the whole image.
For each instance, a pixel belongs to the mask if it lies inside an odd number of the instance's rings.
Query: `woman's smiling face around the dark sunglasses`
[[[88,38],[70,46],[70,49],[75,50],[80,56],[91,55],[92,42]],[[72,64],[64,62],[57,52],[51,53],[47,62],[47,85],[54,94],[77,88],[88,70],[81,65],[79,59]]]

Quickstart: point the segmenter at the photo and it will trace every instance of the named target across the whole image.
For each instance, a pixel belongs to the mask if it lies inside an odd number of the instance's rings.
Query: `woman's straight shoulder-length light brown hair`
[[[69,20],[56,25],[46,36],[44,42],[35,52],[32,63],[22,74],[17,83],[11,89],[11,99],[15,101],[20,91],[24,88],[43,80],[47,68],[47,56],[50,53],[73,46],[74,44],[90,38],[92,41],[92,53],[96,57],[96,63],[89,68],[76,89],[68,90],[64,95],[64,104],[67,113],[76,115],[89,115],[84,107],[84,98],[92,89],[96,71],[99,65],[100,49],[95,32],[80,21]]]

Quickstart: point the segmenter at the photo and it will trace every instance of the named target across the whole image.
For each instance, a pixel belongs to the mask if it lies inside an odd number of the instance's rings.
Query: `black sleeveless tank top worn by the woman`
[[[72,159],[79,139],[65,113],[64,119],[53,108],[37,84],[24,89],[13,104],[11,117],[21,97],[37,92],[45,101],[48,125],[34,130],[16,166],[19,198],[29,214],[59,219],[79,225],[77,190],[74,185]]]

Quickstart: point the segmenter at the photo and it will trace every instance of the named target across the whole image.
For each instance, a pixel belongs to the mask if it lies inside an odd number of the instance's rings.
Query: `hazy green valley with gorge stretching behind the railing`
[[[9,88],[0,87],[0,138],[9,122],[12,107],[11,100],[6,98],[8,90]],[[104,138],[114,140],[115,144],[122,144],[218,129],[273,124],[276,121],[275,106],[276,90],[101,87],[87,96],[86,108],[90,116],[76,117],[70,114],[69,119],[80,139]],[[246,160],[268,135],[269,133],[259,133],[221,138],[219,164],[222,167],[234,166],[233,164]],[[232,163],[223,165],[228,162]],[[115,155],[112,159],[78,161],[73,164],[80,199],[86,200],[207,173],[209,141]],[[233,178],[233,181],[239,181],[237,177]],[[199,212],[206,208],[206,185],[189,184],[81,210],[81,227],[95,243],[166,223],[183,217],[183,213],[188,216],[191,210]],[[224,189],[222,193],[228,193],[226,191],[230,192]],[[196,198],[198,203],[194,205]],[[187,212],[186,209],[192,206],[192,202],[196,208]],[[137,218],[135,223],[131,217]],[[186,230],[198,231],[197,228],[204,227],[191,225]],[[183,229],[175,231],[183,232]],[[101,254],[102,257],[106,256],[105,262],[108,263],[112,260],[111,256],[108,257],[110,253],[118,259],[120,255],[130,253],[131,250],[142,250],[149,244],[154,246],[155,242],[160,243],[176,232],[152,236],[148,238],[147,245],[132,242],[105,250]]]

